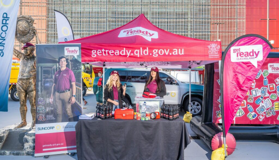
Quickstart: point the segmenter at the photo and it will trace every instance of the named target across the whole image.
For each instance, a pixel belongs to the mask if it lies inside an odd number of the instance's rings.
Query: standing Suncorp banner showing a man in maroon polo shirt
[[[76,152],[82,114],[80,44],[37,44],[35,156]]]

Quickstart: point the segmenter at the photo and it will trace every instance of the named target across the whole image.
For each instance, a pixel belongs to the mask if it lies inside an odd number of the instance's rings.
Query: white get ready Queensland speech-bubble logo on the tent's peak
[[[127,37],[127,36],[134,36],[139,35],[144,37],[145,39],[151,41],[151,38],[158,38],[158,32],[143,28],[141,26],[123,29],[120,31],[118,37]]]

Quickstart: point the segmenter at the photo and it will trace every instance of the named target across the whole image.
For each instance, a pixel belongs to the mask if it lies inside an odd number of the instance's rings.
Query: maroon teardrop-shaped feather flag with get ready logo
[[[226,48],[221,64],[221,106],[225,134],[270,48],[272,46],[267,39],[256,34],[240,36]]]

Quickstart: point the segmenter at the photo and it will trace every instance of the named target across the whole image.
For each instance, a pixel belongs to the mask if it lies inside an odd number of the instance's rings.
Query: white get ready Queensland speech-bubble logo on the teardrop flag
[[[244,45],[244,46],[232,46],[231,49],[231,61],[250,61],[255,67],[257,67],[257,61],[262,60],[262,45]]]

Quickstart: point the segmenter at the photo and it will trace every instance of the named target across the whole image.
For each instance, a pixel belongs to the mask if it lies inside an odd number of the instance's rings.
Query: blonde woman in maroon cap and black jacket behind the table
[[[118,71],[111,71],[104,88],[104,100],[107,101],[107,105],[113,106],[113,111],[123,108],[121,98],[125,97],[125,91],[126,85],[120,83]]]

